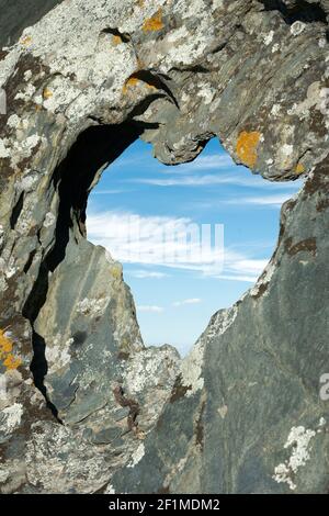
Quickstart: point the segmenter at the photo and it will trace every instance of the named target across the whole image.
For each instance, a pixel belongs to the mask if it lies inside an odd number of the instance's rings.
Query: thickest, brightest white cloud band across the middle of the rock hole
[[[268,260],[254,259],[259,253],[246,245],[235,248],[209,248],[200,253],[200,246],[190,245],[191,257],[185,260],[166,260],[166,257],[186,257],[186,239],[182,232],[193,221],[188,217],[141,216],[128,212],[101,212],[88,217],[88,236],[97,245],[105,247],[124,263],[160,266],[168,269],[189,270],[204,277],[254,281]],[[134,226],[135,225],[135,226]],[[138,231],[135,231],[137,228]],[[166,231],[164,231],[166,229]],[[259,246],[262,251],[263,248]],[[252,253],[252,255],[251,255]],[[251,256],[250,256],[251,255]],[[129,272],[137,278],[162,278],[166,272],[137,269]]]

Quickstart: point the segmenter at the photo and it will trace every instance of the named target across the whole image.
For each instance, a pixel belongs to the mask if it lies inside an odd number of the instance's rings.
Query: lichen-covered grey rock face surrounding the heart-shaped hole
[[[329,2],[1,1],[0,491],[326,493]],[[3,21],[2,21],[3,20]],[[190,356],[146,348],[88,195],[136,138],[305,176]]]

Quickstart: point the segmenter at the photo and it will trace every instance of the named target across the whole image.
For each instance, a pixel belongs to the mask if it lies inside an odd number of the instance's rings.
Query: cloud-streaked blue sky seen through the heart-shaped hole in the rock
[[[217,138],[175,167],[161,165],[138,139],[103,172],[88,204],[88,238],[123,263],[146,345],[171,344],[184,355],[211,315],[252,287],[275,247],[280,207],[300,184],[270,183],[236,166]],[[211,227],[212,250],[182,259],[186,245],[198,247],[177,235],[202,224]],[[179,261],[168,259],[169,250]]]

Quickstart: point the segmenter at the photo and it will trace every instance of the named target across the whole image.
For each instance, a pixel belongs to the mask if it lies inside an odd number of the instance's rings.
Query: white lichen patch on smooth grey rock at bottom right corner
[[[315,430],[305,429],[304,426],[293,426],[284,445],[285,449],[292,448],[292,455],[274,469],[273,479],[277,483],[287,483],[292,491],[297,487],[295,476],[299,468],[304,467],[310,458],[309,444],[315,435]]]

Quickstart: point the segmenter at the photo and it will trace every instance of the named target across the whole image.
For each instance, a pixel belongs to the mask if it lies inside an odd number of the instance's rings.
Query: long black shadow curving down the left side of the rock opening
[[[120,125],[92,126],[81,133],[67,157],[55,169],[53,182],[58,191],[59,206],[55,239],[52,249],[44,257],[38,276],[30,292],[22,310],[23,316],[27,318],[33,328],[32,346],[33,360],[31,371],[35,386],[44,395],[47,407],[58,418],[56,407],[48,399],[44,379],[47,374],[48,364],[45,356],[46,343],[44,338],[34,330],[34,323],[38,313],[46,302],[48,292],[48,276],[64,260],[66,247],[70,238],[70,229],[78,227],[81,235],[86,236],[86,209],[89,191],[98,172],[102,167],[114,161],[138,136],[144,127],[133,123]],[[19,213],[19,207],[16,213]],[[16,220],[16,214],[14,218]],[[15,223],[15,221],[13,221]],[[33,257],[29,257],[26,268]],[[75,344],[83,341],[83,335],[76,335]]]

